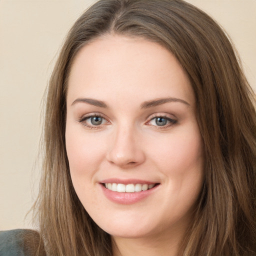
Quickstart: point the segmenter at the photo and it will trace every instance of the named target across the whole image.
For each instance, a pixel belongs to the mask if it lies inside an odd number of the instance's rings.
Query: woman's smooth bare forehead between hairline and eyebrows
[[[104,100],[110,93],[128,97],[131,92],[141,100],[176,96],[194,101],[185,71],[170,51],[155,42],[106,35],[80,49],[68,77],[67,100],[95,93]]]

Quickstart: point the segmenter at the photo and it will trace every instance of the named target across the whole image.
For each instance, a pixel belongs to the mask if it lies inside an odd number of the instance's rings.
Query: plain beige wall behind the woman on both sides
[[[256,0],[187,0],[229,33],[256,90]],[[62,40],[94,0],[0,0],[0,229],[33,227],[42,96]]]

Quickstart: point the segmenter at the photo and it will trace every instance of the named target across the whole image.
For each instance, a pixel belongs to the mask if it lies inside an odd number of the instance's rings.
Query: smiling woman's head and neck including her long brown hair
[[[232,45],[182,0],[100,0],[46,102],[47,255],[255,255],[256,114]]]

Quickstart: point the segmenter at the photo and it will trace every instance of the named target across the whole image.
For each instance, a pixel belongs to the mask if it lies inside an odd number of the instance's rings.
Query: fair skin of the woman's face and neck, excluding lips
[[[176,100],[145,107],[166,97]],[[174,121],[160,126],[156,116]],[[203,150],[194,94],[175,57],[138,37],[109,34],[83,46],[68,78],[65,139],[74,189],[111,235],[113,255],[176,255],[202,187]],[[121,204],[100,184],[116,177],[159,185]]]

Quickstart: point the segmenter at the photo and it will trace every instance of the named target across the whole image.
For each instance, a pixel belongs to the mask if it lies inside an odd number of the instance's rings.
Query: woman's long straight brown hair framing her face
[[[35,204],[48,255],[111,255],[110,235],[94,223],[73,189],[64,136],[72,60],[88,41],[106,33],[163,45],[190,79],[205,181],[180,255],[255,254],[256,114],[230,40],[212,18],[183,0],[99,0],[70,29],[49,81]]]

